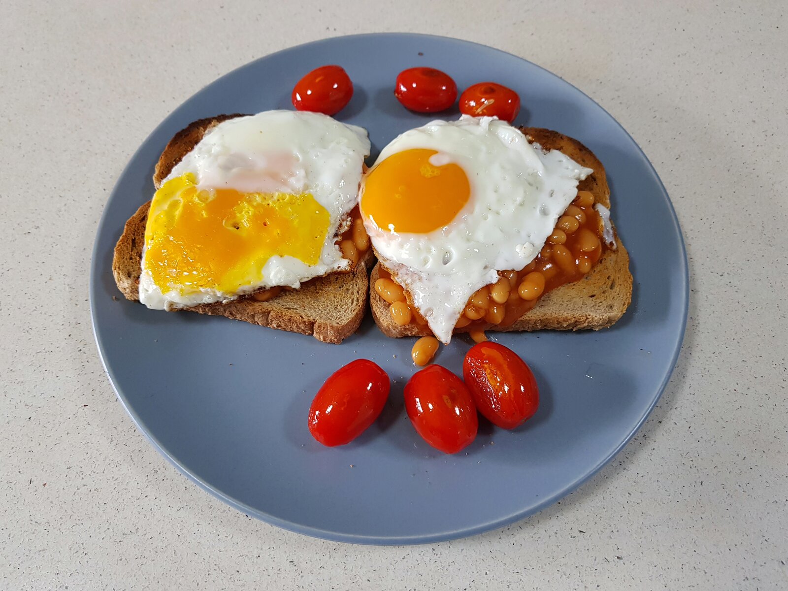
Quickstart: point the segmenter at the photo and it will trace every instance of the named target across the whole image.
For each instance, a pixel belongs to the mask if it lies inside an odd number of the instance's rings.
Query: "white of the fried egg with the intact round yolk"
[[[448,343],[470,296],[497,281],[498,270],[522,269],[536,257],[577,196],[578,181],[593,170],[532,146],[504,121],[466,115],[404,132],[375,165],[416,148],[437,151],[433,165],[453,162],[465,171],[470,199],[463,210],[426,234],[397,233],[362,214],[378,258],[410,292],[434,335]]]

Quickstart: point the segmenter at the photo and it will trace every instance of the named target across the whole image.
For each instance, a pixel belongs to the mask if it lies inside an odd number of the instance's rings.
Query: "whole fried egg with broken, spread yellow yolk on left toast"
[[[358,200],[366,131],[321,113],[223,121],[151,202],[139,300],[172,309],[348,269],[336,245]]]

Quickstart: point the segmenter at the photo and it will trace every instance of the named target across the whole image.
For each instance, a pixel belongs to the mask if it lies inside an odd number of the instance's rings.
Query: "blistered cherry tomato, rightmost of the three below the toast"
[[[463,377],[479,412],[493,425],[514,429],[539,407],[539,388],[530,367],[502,344],[485,341],[471,347]]]

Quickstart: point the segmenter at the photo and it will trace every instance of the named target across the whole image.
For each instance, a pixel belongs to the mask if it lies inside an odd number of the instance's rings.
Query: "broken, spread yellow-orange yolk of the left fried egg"
[[[145,266],[165,293],[235,293],[260,284],[263,267],[275,255],[317,264],[328,230],[329,212],[313,195],[199,189],[189,173],[154,195]]]

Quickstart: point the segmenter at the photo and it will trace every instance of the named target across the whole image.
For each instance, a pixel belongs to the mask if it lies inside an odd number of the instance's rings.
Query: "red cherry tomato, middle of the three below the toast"
[[[445,367],[429,366],[411,377],[405,385],[405,410],[416,432],[441,452],[459,452],[476,437],[474,400]]]

